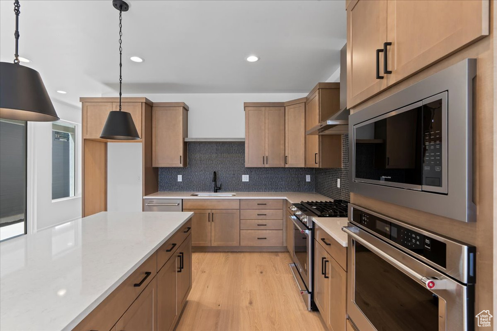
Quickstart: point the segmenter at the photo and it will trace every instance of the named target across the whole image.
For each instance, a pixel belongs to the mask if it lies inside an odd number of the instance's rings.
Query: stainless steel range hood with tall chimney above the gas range
[[[347,44],[345,44],[340,51],[340,110],[328,120],[308,130],[306,134],[348,133],[349,115],[350,110],[347,109]]]

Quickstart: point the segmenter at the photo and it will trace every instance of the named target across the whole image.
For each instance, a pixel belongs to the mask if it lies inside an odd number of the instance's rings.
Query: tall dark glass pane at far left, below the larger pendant
[[[0,120],[0,240],[26,233],[27,125]]]

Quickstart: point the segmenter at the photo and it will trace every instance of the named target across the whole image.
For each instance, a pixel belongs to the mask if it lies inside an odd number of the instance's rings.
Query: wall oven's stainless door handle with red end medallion
[[[358,227],[355,226],[344,226],[342,227],[342,231],[348,234],[350,237],[352,237],[355,241],[357,241],[359,244],[362,246],[366,247],[376,255],[380,256],[382,259],[387,260],[391,265],[394,265],[397,267],[399,270],[413,278],[414,280],[418,281],[420,284],[424,285],[427,289],[429,290],[439,290],[439,289],[445,289],[446,288],[446,280],[445,279],[438,279],[434,277],[426,277],[423,276],[422,274],[416,272],[409,266],[403,264],[402,262],[392,258],[390,255],[387,253],[383,252],[373,244],[369,243],[367,240],[364,238],[361,238],[358,233],[366,233],[365,231],[359,229]]]

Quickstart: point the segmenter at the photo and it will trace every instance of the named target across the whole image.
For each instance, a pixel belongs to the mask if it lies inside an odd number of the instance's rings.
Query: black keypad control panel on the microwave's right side
[[[442,99],[423,105],[423,185],[442,186]]]

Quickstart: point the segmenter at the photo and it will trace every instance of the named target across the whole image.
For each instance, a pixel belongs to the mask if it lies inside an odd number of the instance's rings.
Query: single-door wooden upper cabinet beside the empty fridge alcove
[[[154,103],[152,108],[152,166],[186,167],[188,106],[182,102]]]

